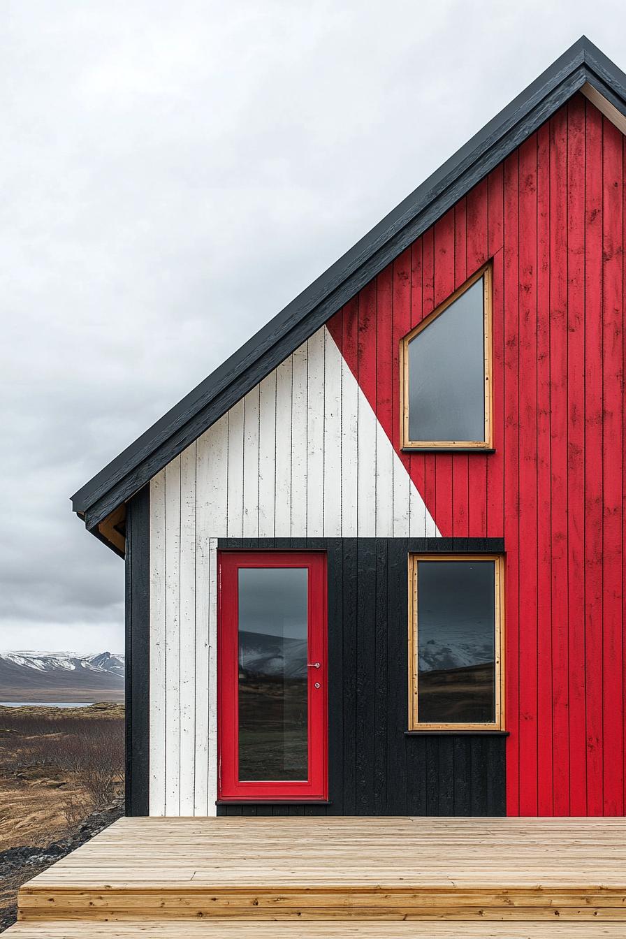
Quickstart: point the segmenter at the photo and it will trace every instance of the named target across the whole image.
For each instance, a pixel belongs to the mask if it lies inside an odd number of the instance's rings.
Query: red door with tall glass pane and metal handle
[[[325,799],[326,556],[221,552],[221,800]]]

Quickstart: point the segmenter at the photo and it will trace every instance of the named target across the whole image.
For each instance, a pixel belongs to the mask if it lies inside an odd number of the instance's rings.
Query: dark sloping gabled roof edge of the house
[[[125,501],[578,91],[626,133],[626,75],[582,37],[296,300],[79,489],[72,507],[87,529],[122,553]]]

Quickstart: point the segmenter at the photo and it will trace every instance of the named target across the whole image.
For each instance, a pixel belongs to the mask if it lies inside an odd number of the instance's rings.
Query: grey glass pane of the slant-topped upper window
[[[484,279],[408,344],[411,440],[484,440]]]

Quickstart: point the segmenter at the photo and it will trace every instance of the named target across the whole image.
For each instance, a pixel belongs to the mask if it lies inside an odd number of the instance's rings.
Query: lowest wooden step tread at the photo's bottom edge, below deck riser
[[[268,922],[189,919],[142,922],[48,920],[17,923],[9,939],[623,939],[623,923],[330,920]]]

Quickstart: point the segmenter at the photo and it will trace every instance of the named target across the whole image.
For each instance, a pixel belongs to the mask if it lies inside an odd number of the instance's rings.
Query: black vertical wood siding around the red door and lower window
[[[407,733],[408,554],[499,539],[223,539],[328,554],[328,805],[219,805],[219,815],[505,815],[506,735]]]

